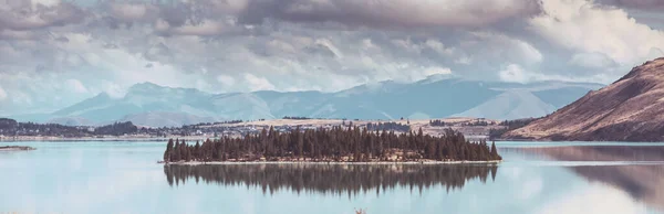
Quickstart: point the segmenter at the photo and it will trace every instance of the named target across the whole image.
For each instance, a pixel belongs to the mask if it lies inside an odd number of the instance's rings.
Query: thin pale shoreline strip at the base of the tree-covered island
[[[390,161],[376,161],[376,162],[314,162],[314,161],[247,161],[247,162],[231,162],[231,161],[188,161],[188,162],[164,162],[158,161],[158,164],[164,165],[235,165],[235,164],[312,164],[312,165],[393,165],[393,164],[498,164],[502,160],[490,160],[490,161],[405,161],[405,162],[390,162]]]

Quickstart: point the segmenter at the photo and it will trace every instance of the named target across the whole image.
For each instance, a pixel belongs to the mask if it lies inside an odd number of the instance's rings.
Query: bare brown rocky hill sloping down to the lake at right
[[[664,57],[504,135],[507,139],[664,141]]]

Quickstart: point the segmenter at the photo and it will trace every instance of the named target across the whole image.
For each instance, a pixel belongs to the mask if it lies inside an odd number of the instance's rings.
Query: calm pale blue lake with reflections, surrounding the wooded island
[[[0,142],[0,213],[663,213],[664,143],[496,142],[498,165],[163,165],[165,142]]]

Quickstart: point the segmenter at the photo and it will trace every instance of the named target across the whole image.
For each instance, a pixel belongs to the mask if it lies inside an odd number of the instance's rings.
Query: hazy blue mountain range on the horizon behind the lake
[[[121,98],[101,93],[52,114],[13,118],[64,125],[133,121],[151,127],[284,116],[517,119],[546,116],[600,87],[602,85],[593,83],[479,82],[449,75],[433,75],[415,83],[386,81],[335,93],[260,90],[210,94],[141,83],[129,87]]]

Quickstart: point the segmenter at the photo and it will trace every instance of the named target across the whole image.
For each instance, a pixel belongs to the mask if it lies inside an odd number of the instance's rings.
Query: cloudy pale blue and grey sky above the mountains
[[[152,82],[336,92],[444,74],[610,84],[664,56],[662,0],[0,0],[0,115]]]

